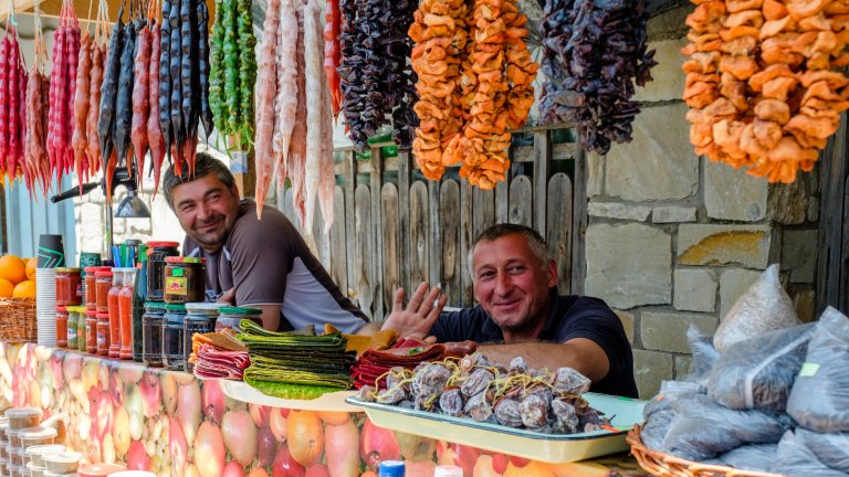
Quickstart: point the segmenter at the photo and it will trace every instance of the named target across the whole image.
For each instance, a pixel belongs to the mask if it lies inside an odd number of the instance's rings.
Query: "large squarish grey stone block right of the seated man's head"
[[[664,231],[591,224],[586,243],[587,295],[620,309],[672,301],[672,239]]]

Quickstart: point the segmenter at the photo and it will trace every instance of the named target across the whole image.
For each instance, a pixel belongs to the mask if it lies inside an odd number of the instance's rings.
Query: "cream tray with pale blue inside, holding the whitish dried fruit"
[[[570,463],[627,451],[625,436],[635,424],[642,422],[644,401],[586,393],[589,404],[612,416],[620,430],[594,431],[578,434],[542,434],[516,430],[468,417],[416,411],[389,404],[363,402],[350,396],[347,402],[365,409],[375,425],[423,437],[470,445],[485,451],[524,457],[545,463]]]

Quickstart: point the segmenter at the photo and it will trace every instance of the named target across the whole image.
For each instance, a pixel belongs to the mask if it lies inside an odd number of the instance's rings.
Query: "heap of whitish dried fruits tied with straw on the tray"
[[[609,418],[581,398],[589,379],[570,368],[527,370],[521,357],[510,369],[480,353],[422,362],[415,370],[398,365],[375,383],[381,381],[381,390],[367,385],[358,398],[546,434],[610,428]]]

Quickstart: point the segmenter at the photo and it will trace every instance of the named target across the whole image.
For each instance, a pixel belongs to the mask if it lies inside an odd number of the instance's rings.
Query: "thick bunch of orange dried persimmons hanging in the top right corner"
[[[847,0],[695,1],[684,102],[695,152],[771,182],[810,171],[849,108]]]

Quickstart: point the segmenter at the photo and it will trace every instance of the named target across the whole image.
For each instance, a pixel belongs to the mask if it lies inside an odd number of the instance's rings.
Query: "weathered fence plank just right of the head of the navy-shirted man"
[[[545,242],[557,262],[557,289],[572,288],[572,181],[563,172],[548,181]]]

